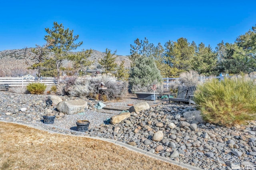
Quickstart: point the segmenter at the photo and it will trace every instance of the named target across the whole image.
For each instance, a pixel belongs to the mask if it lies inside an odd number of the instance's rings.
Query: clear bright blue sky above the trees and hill
[[[130,55],[130,44],[144,37],[163,46],[184,37],[215,49],[255,26],[255,6],[255,0],[3,0],[0,51],[43,45],[54,21],[79,35],[83,44],[76,51]]]

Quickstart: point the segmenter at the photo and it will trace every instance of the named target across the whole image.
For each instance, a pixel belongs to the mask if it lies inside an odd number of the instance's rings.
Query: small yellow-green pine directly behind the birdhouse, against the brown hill
[[[98,63],[104,68],[104,73],[113,73],[116,71],[116,57],[114,56],[116,51],[111,54],[111,50],[106,49],[103,59],[98,60]]]

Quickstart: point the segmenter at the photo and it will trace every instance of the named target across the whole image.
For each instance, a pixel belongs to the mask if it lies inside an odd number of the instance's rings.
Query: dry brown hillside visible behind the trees
[[[26,59],[31,61],[32,48],[28,48],[26,51]],[[90,66],[90,69],[96,68],[99,63],[98,59],[102,59],[105,53],[100,51],[92,50],[92,55],[88,58],[90,61],[94,61],[94,63]],[[72,52],[75,53],[75,52]],[[14,49],[14,50],[4,50],[0,51],[0,76],[14,76],[14,75],[24,75],[24,74],[34,74],[34,70],[27,70],[28,65],[26,64],[26,59],[24,59],[25,49]],[[126,68],[130,67],[130,59],[128,56],[116,55],[116,63],[119,65],[122,61],[124,61],[124,66]],[[69,61],[64,62],[64,66],[67,66]]]

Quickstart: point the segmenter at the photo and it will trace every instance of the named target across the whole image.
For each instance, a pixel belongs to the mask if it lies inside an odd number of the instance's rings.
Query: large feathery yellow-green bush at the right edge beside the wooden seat
[[[194,101],[205,121],[226,127],[256,119],[256,84],[250,79],[212,79],[197,87]]]

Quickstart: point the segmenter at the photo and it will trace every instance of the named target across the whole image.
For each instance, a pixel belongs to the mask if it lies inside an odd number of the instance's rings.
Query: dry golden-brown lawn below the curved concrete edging
[[[0,122],[0,169],[186,170],[105,141]]]

